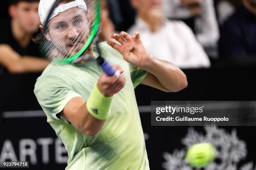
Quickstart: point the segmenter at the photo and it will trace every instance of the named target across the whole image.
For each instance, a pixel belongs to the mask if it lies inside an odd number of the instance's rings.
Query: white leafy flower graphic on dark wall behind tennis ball
[[[189,128],[186,137],[182,139],[185,148],[180,151],[175,150],[172,154],[163,154],[166,160],[163,163],[163,168],[166,170],[256,170],[256,167],[253,169],[253,163],[238,167],[238,163],[246,158],[247,150],[246,143],[238,139],[236,130],[228,133],[215,125],[206,125],[204,128],[206,135],[198,133],[194,128]],[[215,146],[217,149],[216,159],[204,168],[192,168],[185,160],[186,150],[190,146],[202,142],[212,143]]]

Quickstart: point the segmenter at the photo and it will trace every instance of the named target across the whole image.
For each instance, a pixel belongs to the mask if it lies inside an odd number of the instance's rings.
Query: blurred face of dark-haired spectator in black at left
[[[38,2],[18,2],[12,6],[12,18],[26,32],[34,33],[38,30],[40,18],[38,15]]]

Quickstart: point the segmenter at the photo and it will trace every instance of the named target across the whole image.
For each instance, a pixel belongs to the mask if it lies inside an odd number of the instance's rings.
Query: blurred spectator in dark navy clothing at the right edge
[[[256,57],[256,0],[243,0],[243,6],[220,28],[220,56],[230,60]]]

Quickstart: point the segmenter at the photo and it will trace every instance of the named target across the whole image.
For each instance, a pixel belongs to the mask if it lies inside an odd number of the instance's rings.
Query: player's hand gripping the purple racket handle
[[[119,77],[108,76],[104,72],[100,76],[100,79],[97,82],[97,86],[100,92],[105,97],[111,97],[114,94],[118,93],[125,86],[125,77],[122,75],[123,70],[120,69],[118,65],[113,67],[115,70],[120,70],[121,75]]]

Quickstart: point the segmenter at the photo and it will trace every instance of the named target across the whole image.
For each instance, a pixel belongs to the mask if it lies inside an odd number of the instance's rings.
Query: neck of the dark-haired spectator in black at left
[[[33,36],[33,33],[26,32],[24,29],[20,28],[16,20],[11,20],[11,30],[15,40],[17,40],[21,47],[26,47]]]

